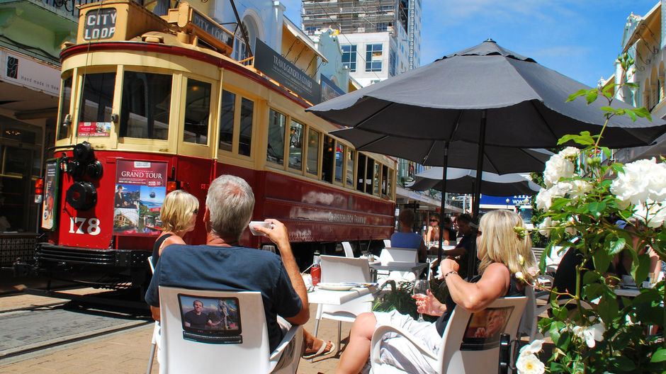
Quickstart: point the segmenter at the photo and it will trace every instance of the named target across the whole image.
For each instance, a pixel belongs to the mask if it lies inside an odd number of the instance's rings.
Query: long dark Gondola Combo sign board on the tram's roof
[[[254,67],[310,103],[322,101],[320,84],[259,39],[256,39]]]

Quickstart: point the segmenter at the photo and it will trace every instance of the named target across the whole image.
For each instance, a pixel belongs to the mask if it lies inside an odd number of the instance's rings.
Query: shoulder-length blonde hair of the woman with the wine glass
[[[536,268],[532,240],[519,215],[510,210],[492,210],[481,217],[478,253],[479,273],[493,262],[504,263],[512,275],[521,272],[527,283],[534,281],[529,268]]]

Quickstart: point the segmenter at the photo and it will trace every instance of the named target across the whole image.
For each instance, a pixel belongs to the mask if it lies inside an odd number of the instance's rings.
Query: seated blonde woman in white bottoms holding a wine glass
[[[442,261],[440,276],[448,285],[450,295],[442,304],[428,291],[427,298],[417,302],[418,312],[439,316],[436,322],[417,322],[395,310],[359,314],[351,327],[349,346],[340,358],[336,373],[356,374],[369,369],[370,343],[379,325],[388,324],[410,331],[436,353],[441,348],[442,334],[453,308],[463,307],[478,312],[499,297],[524,295],[524,282],[532,281],[527,269],[536,266],[536,263],[531,256],[529,235],[519,234],[516,228],[524,229],[523,220],[509,210],[495,210],[481,218],[477,239],[480,275],[471,282],[458,276],[456,261]],[[526,280],[517,279],[514,276],[517,272],[521,272]],[[407,373],[435,372],[404,337],[384,336],[381,351],[383,362]]]

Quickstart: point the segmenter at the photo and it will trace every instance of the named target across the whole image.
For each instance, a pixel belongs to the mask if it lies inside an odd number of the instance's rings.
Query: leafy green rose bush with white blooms
[[[623,67],[633,63],[626,56],[620,62]],[[615,115],[650,118],[645,108],[611,108],[616,88],[611,84],[581,90],[570,100],[584,96],[590,103],[606,98],[606,123]],[[611,151],[599,147],[602,137],[603,130],[599,135],[581,132],[560,139],[560,144],[575,142],[580,149],[567,147],[553,155],[535,198],[544,217],[538,232],[549,241],[541,271],[555,247],[582,256],[575,292],[551,290],[552,317],[539,321],[554,344],[546,367],[550,373],[666,373],[665,282],[642,288],[638,297],[618,297],[614,291],[620,279],[610,271],[611,262],[623,254],[631,259],[628,271],[640,285],[650,271],[650,257],[643,249],[666,260],[666,164],[664,159],[613,163]],[[616,225],[619,221],[626,225]],[[558,305],[558,296],[568,297],[568,305]],[[543,373],[546,367],[540,371],[530,355],[534,348],[521,352],[519,373]]]

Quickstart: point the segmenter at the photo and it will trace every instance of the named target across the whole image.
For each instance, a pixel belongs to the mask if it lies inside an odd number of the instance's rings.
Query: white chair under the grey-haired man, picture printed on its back
[[[201,329],[186,324],[186,310],[193,300],[210,305],[225,304],[223,328]],[[208,306],[208,308],[206,308]],[[264,303],[261,293],[190,290],[159,287],[164,361],[160,373],[295,373],[303,349],[303,327],[291,327],[278,347],[269,351]],[[282,358],[281,356],[285,356]],[[286,360],[286,361],[281,361]],[[276,369],[276,365],[281,363]]]

